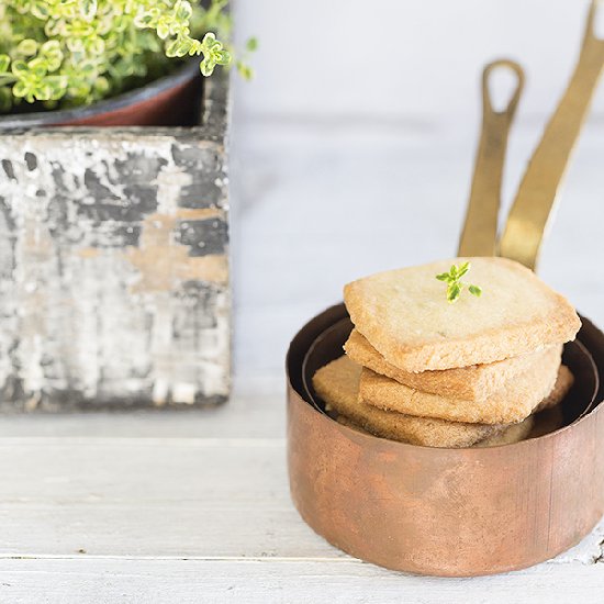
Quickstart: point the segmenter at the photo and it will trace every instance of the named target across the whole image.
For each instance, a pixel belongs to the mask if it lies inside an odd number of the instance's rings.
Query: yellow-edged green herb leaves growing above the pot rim
[[[89,104],[168,72],[176,57],[199,56],[210,76],[232,63],[226,8],[227,0],[0,0],[0,111],[23,101]]]

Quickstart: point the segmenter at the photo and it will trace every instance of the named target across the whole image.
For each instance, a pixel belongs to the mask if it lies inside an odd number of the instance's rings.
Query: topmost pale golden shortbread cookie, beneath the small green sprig
[[[436,275],[471,261],[465,291],[446,300]],[[348,283],[344,300],[356,328],[405,371],[494,362],[574,338],[581,322],[571,304],[529,269],[506,258],[455,258],[380,272]]]

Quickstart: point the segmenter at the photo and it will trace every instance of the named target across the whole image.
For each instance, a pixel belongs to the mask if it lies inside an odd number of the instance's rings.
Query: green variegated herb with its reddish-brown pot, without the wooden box
[[[195,76],[232,61],[226,9],[227,0],[0,0],[0,127],[190,124]]]

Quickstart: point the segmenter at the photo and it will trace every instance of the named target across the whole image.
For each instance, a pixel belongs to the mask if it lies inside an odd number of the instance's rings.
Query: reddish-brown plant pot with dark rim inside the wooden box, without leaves
[[[199,61],[146,86],[91,105],[0,115],[0,131],[32,126],[191,126],[199,116],[203,79]]]

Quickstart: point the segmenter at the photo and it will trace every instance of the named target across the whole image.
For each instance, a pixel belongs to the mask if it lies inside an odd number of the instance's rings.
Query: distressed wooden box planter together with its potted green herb
[[[0,0],[0,409],[228,398],[230,30],[226,0]]]

